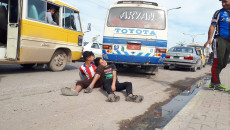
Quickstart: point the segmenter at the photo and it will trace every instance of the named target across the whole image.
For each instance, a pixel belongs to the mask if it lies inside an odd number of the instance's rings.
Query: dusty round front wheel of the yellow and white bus
[[[52,71],[62,71],[67,63],[67,55],[63,50],[57,50],[52,56],[48,66]]]

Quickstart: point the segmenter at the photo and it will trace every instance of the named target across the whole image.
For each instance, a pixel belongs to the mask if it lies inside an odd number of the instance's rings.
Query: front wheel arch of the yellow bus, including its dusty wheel
[[[62,71],[69,62],[69,59],[72,59],[72,55],[70,54],[71,51],[69,52],[68,49],[57,49],[48,63],[49,69],[51,71]]]

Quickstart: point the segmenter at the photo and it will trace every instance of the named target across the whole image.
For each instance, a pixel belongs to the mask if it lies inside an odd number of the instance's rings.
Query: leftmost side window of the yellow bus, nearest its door
[[[28,0],[28,17],[45,21],[46,3],[41,0]]]

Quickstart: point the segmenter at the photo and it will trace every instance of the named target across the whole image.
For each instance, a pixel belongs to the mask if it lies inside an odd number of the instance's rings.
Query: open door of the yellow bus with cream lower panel
[[[19,19],[21,14],[21,0],[8,1],[8,29],[7,29],[7,59],[16,60],[19,47]]]

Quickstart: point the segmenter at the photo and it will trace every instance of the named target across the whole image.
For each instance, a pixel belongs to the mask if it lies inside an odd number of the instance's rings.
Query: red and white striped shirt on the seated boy
[[[91,79],[95,75],[96,66],[92,63],[91,66],[86,66],[85,63],[79,67],[79,70],[83,75],[87,77],[87,79]]]

